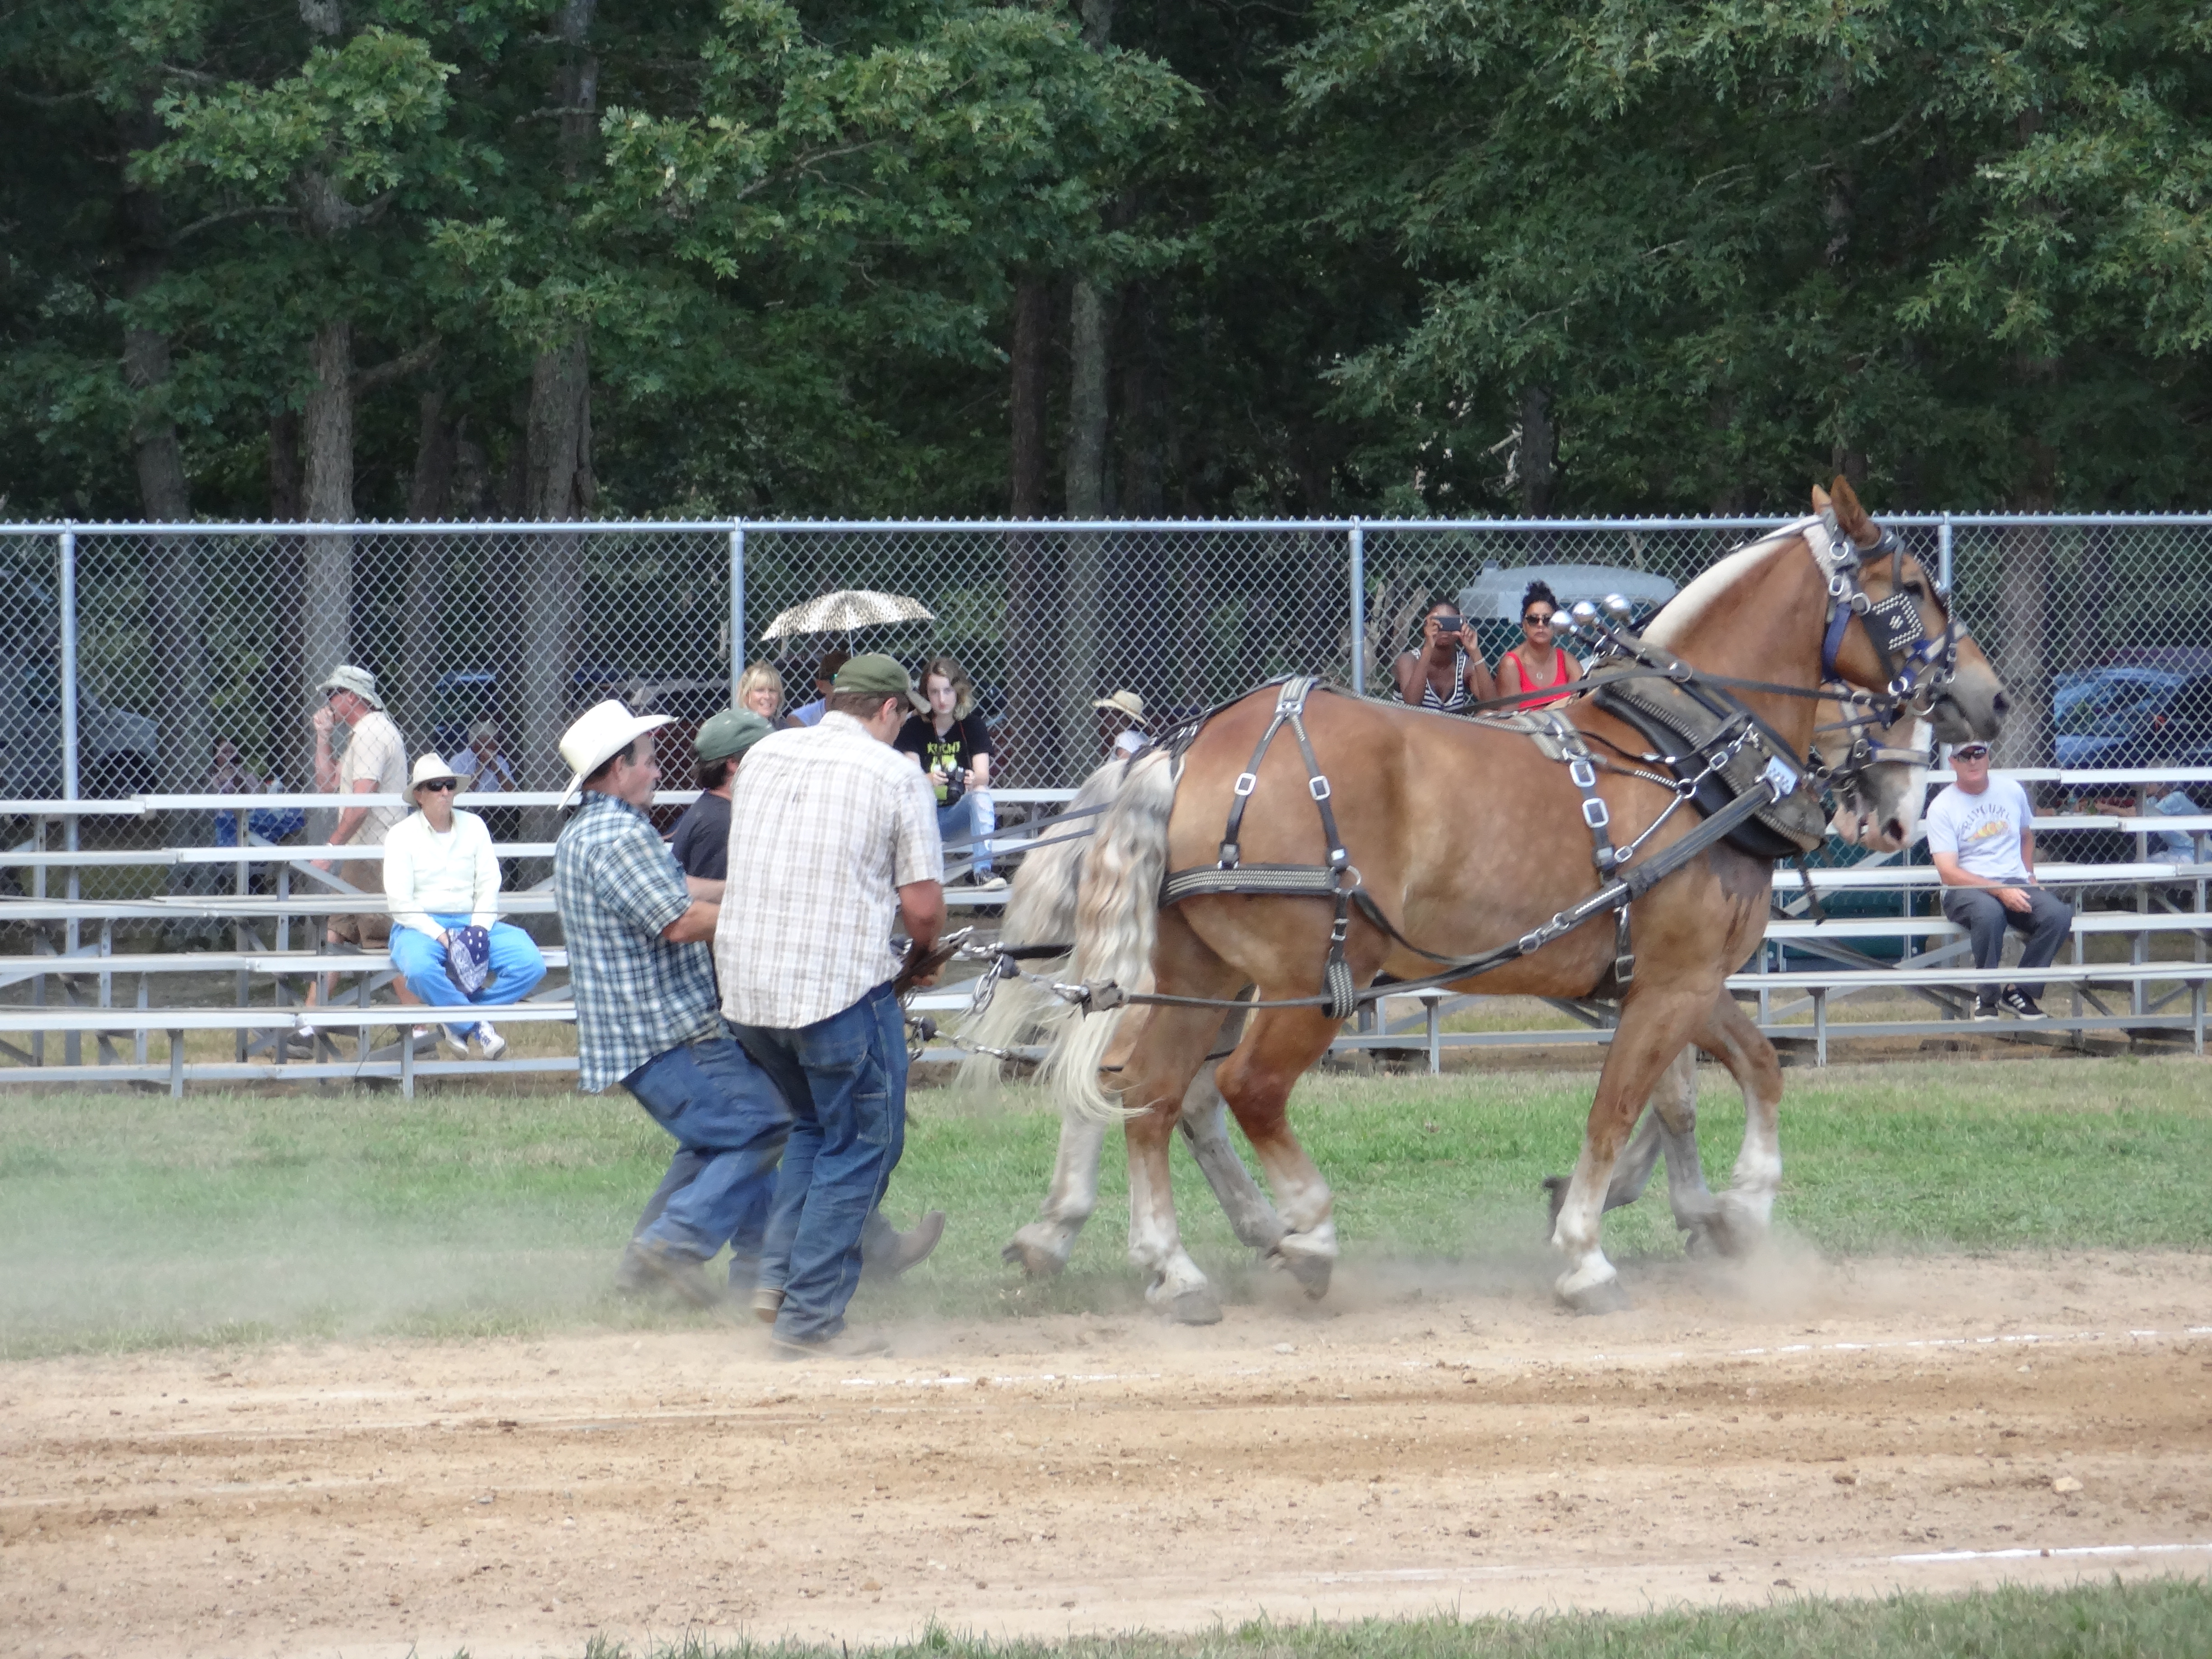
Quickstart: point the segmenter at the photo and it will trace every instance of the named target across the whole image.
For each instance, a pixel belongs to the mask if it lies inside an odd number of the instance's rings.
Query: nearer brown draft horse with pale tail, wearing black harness
[[[1845,480],[1814,491],[1814,507],[1818,518],[1692,582],[1648,630],[1650,646],[1705,688],[1728,690],[1745,714],[1739,739],[1756,732],[1756,752],[1787,787],[1803,781],[1825,677],[1913,699],[1947,741],[1995,734],[2004,688],[1927,571],[1867,518]],[[1900,675],[1898,635],[1876,637],[1869,613],[1885,617],[1885,633],[1909,619],[1918,639],[1942,641],[1940,670]],[[1327,1051],[1347,998],[1383,973],[1500,995],[1619,991],[1619,1029],[1553,1223],[1566,1256],[1562,1301],[1593,1312],[1619,1305],[1619,1274],[1601,1250],[1604,1203],[1646,1099],[1690,1044],[1730,1068],[1747,1106],[1732,1186],[1710,1194],[1703,1225],[1723,1248],[1763,1237],[1781,1181],[1781,1068],[1723,980],[1765,927],[1772,856],[1703,838],[1717,823],[1699,827],[1697,812],[1677,810],[1681,792],[1644,763],[1646,734],[1593,699],[1568,714],[1582,754],[1595,759],[1579,776],[1515,730],[1332,695],[1305,701],[1298,748],[1261,745],[1281,712],[1281,697],[1254,692],[1219,710],[1181,754],[1139,759],[1082,860],[1071,973],[1086,1013],[1057,1029],[1048,1075],[1064,1110],[1126,1119],[1130,1256],[1150,1274],[1148,1301],[1183,1318],[1217,1307],[1181,1248],[1166,1155],[1230,1015],[1248,1022],[1214,1086],[1274,1192],[1285,1232],[1270,1254],[1310,1294],[1325,1294],[1332,1197],[1285,1106]],[[1225,836],[1223,823],[1239,827]],[[1610,827],[1601,852],[1621,856],[1610,872],[1593,867],[1584,830],[1593,823]],[[1677,843],[1694,856],[1670,867]],[[1347,909],[1312,889],[1175,891],[1172,878],[1217,858],[1225,867],[1232,854],[1252,872],[1329,869],[1338,891],[1365,898]],[[1635,887],[1639,867],[1666,874]],[[1608,874],[1635,887],[1626,984],[1624,936],[1586,925],[1597,911],[1577,909]],[[1467,971],[1440,973],[1438,962]]]

